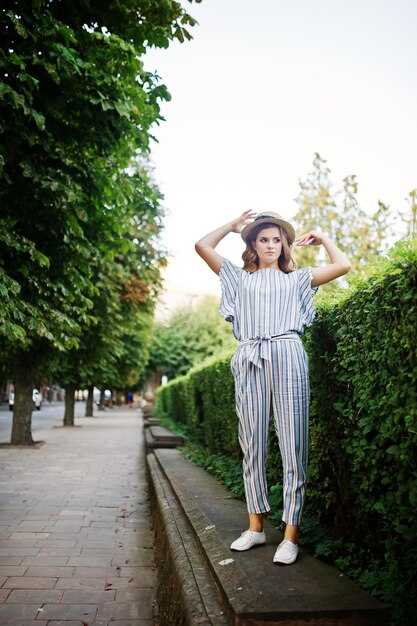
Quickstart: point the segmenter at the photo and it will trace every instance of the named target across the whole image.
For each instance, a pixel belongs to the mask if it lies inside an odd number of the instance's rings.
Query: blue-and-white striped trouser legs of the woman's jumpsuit
[[[262,369],[248,359],[249,349],[232,359],[239,443],[248,511],[271,510],[266,480],[269,420],[283,463],[283,521],[299,525],[304,506],[308,457],[309,381],[307,354],[301,340],[271,342],[271,361]]]

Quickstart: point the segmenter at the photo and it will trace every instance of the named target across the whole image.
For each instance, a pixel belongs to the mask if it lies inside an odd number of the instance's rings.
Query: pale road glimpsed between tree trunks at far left
[[[97,410],[97,409],[96,409]],[[85,415],[85,402],[75,403],[75,417],[83,417]],[[53,428],[54,426],[62,426],[64,421],[64,403],[63,402],[44,402],[40,411],[32,412],[32,436],[36,441],[39,439],[36,432],[45,427]],[[0,406],[0,443],[9,443],[12,431],[12,412],[9,411],[8,405]]]

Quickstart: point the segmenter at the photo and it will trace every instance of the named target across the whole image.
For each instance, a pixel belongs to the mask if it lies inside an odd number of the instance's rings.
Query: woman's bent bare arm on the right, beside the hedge
[[[329,255],[330,263],[319,267],[313,267],[312,287],[318,287],[329,283],[339,276],[347,274],[352,267],[346,255],[336,246],[336,244],[326,235],[317,231],[310,231],[296,240],[297,246],[320,246],[323,245]]]

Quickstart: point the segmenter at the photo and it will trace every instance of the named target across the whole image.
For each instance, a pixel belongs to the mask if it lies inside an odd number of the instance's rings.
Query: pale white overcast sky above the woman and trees
[[[172,96],[152,149],[168,308],[219,293],[200,237],[248,209],[291,219],[316,152],[336,187],[356,174],[366,211],[406,210],[417,187],[415,0],[182,4],[193,40],[145,57]],[[232,233],[218,250],[241,265],[243,247]]]

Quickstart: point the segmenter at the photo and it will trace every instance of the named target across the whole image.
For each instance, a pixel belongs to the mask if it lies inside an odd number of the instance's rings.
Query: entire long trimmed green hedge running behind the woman
[[[336,552],[322,553],[388,604],[394,623],[412,623],[417,602],[416,246],[397,246],[366,279],[331,298],[317,305],[315,323],[305,335],[312,391],[305,521],[314,519],[341,538],[334,543]],[[181,424],[207,454],[238,460],[230,357],[161,388],[157,411]],[[275,437],[269,459],[274,492],[282,480]]]

